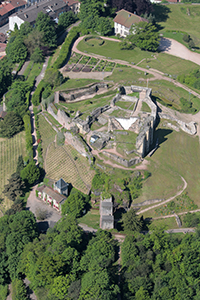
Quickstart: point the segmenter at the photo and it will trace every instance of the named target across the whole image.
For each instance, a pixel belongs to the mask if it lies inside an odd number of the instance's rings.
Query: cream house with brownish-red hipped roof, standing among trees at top
[[[119,34],[123,37],[126,37],[129,34],[130,28],[133,24],[137,24],[139,22],[148,22],[148,20],[137,16],[136,14],[132,14],[125,9],[119,10],[116,14],[116,17],[113,20],[115,34]]]

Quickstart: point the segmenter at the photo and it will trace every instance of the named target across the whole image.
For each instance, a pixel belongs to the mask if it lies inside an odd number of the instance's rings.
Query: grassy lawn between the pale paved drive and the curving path
[[[159,70],[172,76],[188,74],[194,69],[199,68],[198,65],[189,60],[185,60],[166,53],[157,54],[156,59],[146,59],[141,64],[139,64],[139,66],[142,68],[148,68],[149,66],[153,69]]]

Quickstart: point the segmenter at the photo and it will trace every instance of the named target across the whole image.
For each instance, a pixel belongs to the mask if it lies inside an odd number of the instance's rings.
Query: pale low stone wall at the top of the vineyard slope
[[[93,162],[93,156],[90,152],[89,146],[81,139],[80,136],[72,134],[71,132],[65,132],[65,143],[74,147],[82,156],[87,157],[89,163]]]

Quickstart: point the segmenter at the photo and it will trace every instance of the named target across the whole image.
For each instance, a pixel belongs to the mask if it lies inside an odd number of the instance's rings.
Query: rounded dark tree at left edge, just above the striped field
[[[23,121],[15,112],[8,112],[4,120],[0,122],[0,135],[11,138],[23,129]]]

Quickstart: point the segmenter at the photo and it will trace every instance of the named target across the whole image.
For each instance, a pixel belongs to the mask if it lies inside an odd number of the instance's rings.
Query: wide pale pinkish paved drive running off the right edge
[[[197,65],[200,65],[200,54],[190,51],[181,43],[173,40],[162,38],[160,41],[159,50],[186,60],[190,60]]]

